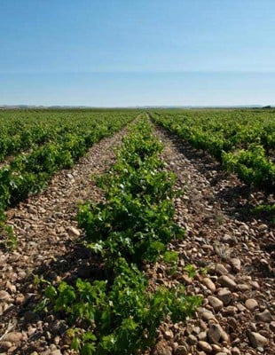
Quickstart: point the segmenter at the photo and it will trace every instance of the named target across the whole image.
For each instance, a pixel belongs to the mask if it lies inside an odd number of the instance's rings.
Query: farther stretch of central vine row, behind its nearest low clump
[[[184,231],[173,221],[175,176],[162,168],[160,143],[145,121],[138,124],[118,154],[112,170],[98,180],[106,203],[84,204],[77,220],[90,248],[113,259],[153,262],[171,238]]]

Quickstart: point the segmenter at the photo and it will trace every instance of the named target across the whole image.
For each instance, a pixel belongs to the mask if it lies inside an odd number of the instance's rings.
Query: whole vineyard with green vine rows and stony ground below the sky
[[[0,126],[0,353],[275,351],[272,109]]]

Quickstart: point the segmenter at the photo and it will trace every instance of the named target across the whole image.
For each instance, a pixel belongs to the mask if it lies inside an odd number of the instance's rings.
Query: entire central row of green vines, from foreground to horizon
[[[46,290],[44,308],[51,306],[67,319],[72,348],[82,355],[138,354],[155,341],[168,315],[183,320],[200,305],[200,298],[185,296],[183,287],[150,291],[138,270],[163,254],[176,264],[178,256],[167,244],[184,235],[173,221],[175,177],[162,170],[160,152],[151,125],[140,119],[124,139],[118,161],[98,179],[106,201],[79,208],[87,246],[102,257],[109,277],[78,279],[74,285],[63,281]]]

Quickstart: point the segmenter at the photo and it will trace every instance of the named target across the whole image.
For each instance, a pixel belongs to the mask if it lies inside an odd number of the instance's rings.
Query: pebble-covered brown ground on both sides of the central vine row
[[[90,255],[77,241],[77,204],[104,199],[91,181],[114,162],[114,147],[125,130],[93,146],[72,170],[54,177],[47,190],[8,212],[18,236],[13,252],[0,251],[0,354],[71,354],[67,326],[35,312],[43,279],[58,282],[89,276]],[[220,170],[208,155],[156,130],[165,144],[166,169],[177,174],[177,222],[186,230],[171,270],[147,265],[152,286],[184,284],[202,297],[193,319],[164,322],[154,355],[275,354],[274,225],[249,213],[273,196],[253,192]],[[273,201],[274,202],[274,201]],[[196,270],[194,278],[185,271]]]

